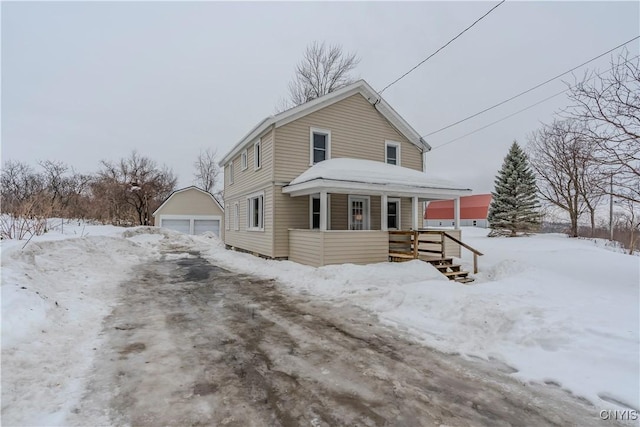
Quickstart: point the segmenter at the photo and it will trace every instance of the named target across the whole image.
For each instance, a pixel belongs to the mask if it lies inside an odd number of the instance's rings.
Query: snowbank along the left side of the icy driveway
[[[63,425],[80,399],[118,285],[153,256],[122,231],[65,223],[2,241],[3,424]]]

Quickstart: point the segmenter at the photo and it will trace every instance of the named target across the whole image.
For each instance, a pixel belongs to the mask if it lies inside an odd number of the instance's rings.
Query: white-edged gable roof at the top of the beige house
[[[263,119],[260,123],[254,126],[249,131],[249,133],[247,133],[240,141],[238,141],[227,154],[225,154],[222,160],[220,160],[219,165],[223,166],[228,163],[231,159],[237,156],[240,151],[244,149],[245,145],[255,140],[270,126],[274,126],[276,128],[284,126],[287,123],[291,123],[294,120],[297,120],[329,105],[335,104],[336,102],[342,101],[343,99],[346,99],[357,93],[361,94],[367,101],[369,101],[369,103],[373,105],[373,107],[378,110],[378,112],[382,114],[382,116],[386,118],[393,125],[393,127],[395,127],[398,132],[404,135],[412,144],[423,151],[431,150],[431,146],[427,144],[424,139],[422,139],[420,134],[416,132],[416,130],[413,129],[411,125],[409,125],[409,123],[407,123],[396,112],[396,110],[393,109],[393,107],[391,107],[384,99],[382,99],[382,97],[378,95],[378,93],[373,90],[373,88],[369,86],[366,81],[358,80],[357,82],[340,88],[334,92],[328,93],[312,101],[306,102],[302,105],[298,105],[297,107],[290,108],[286,111]]]

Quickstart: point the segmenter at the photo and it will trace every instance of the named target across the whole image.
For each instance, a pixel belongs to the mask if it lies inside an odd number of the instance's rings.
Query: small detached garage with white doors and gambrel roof
[[[176,190],[153,213],[157,227],[185,234],[214,232],[223,237],[224,210],[213,194],[191,186]]]

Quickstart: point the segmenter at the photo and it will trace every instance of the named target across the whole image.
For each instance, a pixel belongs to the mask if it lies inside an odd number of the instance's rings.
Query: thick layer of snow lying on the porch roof
[[[437,189],[462,189],[451,181],[431,177],[414,169],[362,159],[329,159],[316,163],[300,174],[289,185],[302,184],[314,179],[352,181],[367,184],[397,184]]]

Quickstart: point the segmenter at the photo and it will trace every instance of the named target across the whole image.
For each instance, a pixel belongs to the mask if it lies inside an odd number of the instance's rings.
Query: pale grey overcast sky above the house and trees
[[[356,77],[381,90],[495,4],[2,2],[2,161],[94,172],[136,149],[191,185],[201,149],[225,154],[274,112],[310,42],[357,52]],[[637,36],[639,4],[507,1],[383,97],[427,134]],[[638,54],[638,41],[628,49]],[[437,147],[563,88],[558,80],[426,140]],[[566,103],[434,148],[428,173],[491,191],[511,142],[524,145]]]

